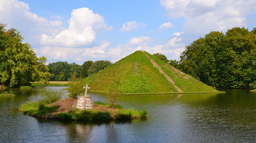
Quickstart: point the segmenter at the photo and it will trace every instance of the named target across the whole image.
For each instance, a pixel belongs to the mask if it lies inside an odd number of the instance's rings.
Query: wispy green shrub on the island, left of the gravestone
[[[50,104],[56,101],[59,101],[63,95],[60,90],[56,89],[43,89],[41,91],[42,99],[38,100],[40,104]]]

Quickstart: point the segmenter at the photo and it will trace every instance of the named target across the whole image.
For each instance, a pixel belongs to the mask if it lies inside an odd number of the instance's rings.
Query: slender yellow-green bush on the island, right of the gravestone
[[[113,81],[107,89],[107,103],[110,107],[114,107],[115,103],[120,100],[120,93],[118,90],[119,82]]]

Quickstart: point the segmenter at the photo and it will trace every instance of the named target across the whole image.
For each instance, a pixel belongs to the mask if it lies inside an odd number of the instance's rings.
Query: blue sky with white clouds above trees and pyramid
[[[256,0],[0,0],[0,23],[50,63],[114,63],[138,50],[179,60],[211,31],[251,31]]]

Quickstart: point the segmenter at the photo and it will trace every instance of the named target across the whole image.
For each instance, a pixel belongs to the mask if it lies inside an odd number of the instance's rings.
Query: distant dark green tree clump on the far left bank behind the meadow
[[[79,77],[80,70],[82,69],[80,65],[76,63],[68,63],[67,61],[58,61],[49,63],[47,65],[51,74],[50,81],[68,81],[71,74],[75,72],[75,76]]]

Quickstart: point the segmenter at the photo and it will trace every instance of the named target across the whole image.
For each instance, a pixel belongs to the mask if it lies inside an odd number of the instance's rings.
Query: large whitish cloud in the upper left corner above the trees
[[[25,37],[24,42],[29,42],[32,46],[38,45],[40,36],[57,33],[63,29],[62,21],[53,17],[48,20],[42,16],[30,12],[28,4],[18,0],[0,1],[1,23],[8,24],[7,28],[14,27],[18,29]]]

